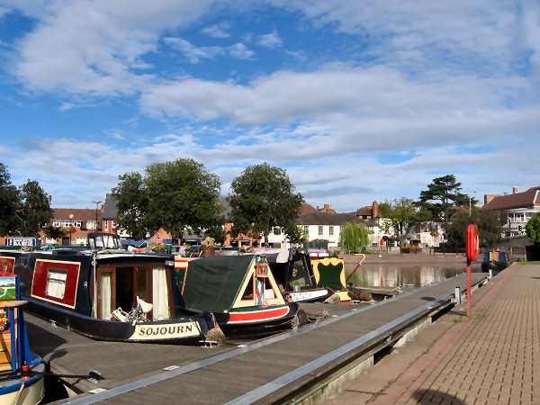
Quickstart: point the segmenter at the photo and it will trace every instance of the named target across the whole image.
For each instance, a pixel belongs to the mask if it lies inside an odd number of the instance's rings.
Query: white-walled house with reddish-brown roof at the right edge
[[[540,211],[540,186],[523,193],[514,187],[511,194],[486,195],[484,202],[481,210],[496,212],[507,236],[523,235],[528,220]]]

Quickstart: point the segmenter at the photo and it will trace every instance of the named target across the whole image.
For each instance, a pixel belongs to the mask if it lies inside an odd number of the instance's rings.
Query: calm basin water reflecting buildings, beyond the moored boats
[[[348,277],[356,265],[346,264]],[[400,265],[386,263],[383,265],[364,264],[348,279],[348,283],[362,286],[383,287],[423,287],[460,275],[467,271],[465,264],[441,263],[440,265]],[[480,264],[473,263],[472,272],[481,272]]]

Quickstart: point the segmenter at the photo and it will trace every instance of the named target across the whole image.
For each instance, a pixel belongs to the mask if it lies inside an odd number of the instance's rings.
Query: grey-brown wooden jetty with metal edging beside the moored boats
[[[485,273],[473,273],[473,285]],[[100,372],[92,383],[69,379],[73,403],[283,402],[346,365],[363,362],[453,305],[466,274],[373,305],[302,303],[329,317],[256,342],[184,347],[95,341],[27,315],[31,347],[56,374]],[[97,390],[97,393],[88,393]],[[102,391],[103,392],[99,392]],[[95,392],[95,391],[94,391]]]

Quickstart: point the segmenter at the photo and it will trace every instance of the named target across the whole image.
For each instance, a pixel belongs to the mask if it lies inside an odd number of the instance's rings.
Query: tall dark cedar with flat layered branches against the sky
[[[448,210],[453,206],[468,206],[469,195],[460,193],[461,183],[457,183],[455,175],[445,175],[433,179],[428,184],[428,190],[420,192],[418,205],[420,208],[431,211],[437,220],[448,219]],[[471,203],[477,201],[471,198]]]

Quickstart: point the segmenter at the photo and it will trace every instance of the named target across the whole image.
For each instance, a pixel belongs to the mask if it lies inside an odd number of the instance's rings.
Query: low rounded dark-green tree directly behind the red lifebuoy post
[[[455,247],[465,247],[467,243],[467,227],[469,225],[478,227],[480,247],[491,248],[500,238],[502,227],[497,215],[492,211],[474,209],[469,212],[460,213],[457,218],[445,225],[446,240],[448,244]]]

